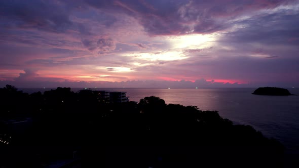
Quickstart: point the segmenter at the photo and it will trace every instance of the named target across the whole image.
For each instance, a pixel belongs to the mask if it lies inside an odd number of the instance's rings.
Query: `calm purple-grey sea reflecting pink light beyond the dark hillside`
[[[24,88],[26,93],[53,88]],[[85,88],[74,88],[78,92]],[[130,101],[139,102],[147,96],[156,96],[166,104],[197,106],[200,110],[216,110],[222,118],[234,124],[251,125],[268,138],[275,138],[285,147],[286,167],[299,167],[299,88],[287,88],[298,96],[252,95],[256,88],[220,89],[140,89],[93,88],[92,90],[127,92]]]

